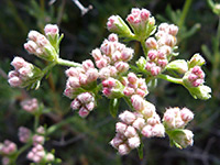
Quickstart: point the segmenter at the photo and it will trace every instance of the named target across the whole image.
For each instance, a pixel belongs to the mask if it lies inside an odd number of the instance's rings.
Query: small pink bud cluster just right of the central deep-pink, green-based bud
[[[145,97],[148,94],[145,79],[138,78],[134,73],[129,73],[128,77],[123,77],[121,81],[124,86],[123,94],[128,97],[132,95]]]

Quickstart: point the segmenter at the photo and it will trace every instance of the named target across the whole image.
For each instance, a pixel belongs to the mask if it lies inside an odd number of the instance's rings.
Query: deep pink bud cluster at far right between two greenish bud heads
[[[183,80],[189,87],[198,87],[205,81],[205,73],[200,66],[195,66],[185,74]]]

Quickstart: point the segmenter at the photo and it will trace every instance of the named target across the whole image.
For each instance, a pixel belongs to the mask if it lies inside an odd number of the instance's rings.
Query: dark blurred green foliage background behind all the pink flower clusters
[[[0,1],[0,142],[18,140],[18,128],[33,128],[33,117],[21,109],[26,98],[37,98],[51,114],[43,116],[41,123],[52,125],[75,116],[73,122],[61,128],[45,143],[47,150],[55,148],[55,155],[63,165],[220,165],[220,28],[219,15],[212,12],[206,0],[81,0],[84,7],[92,6],[85,15],[72,0],[1,0]],[[218,1],[215,1],[217,3]],[[114,136],[114,123],[103,98],[99,107],[81,119],[70,110],[70,100],[64,97],[67,67],[55,67],[38,90],[11,88],[7,73],[10,62],[22,56],[28,62],[44,66],[44,62],[29,55],[23,44],[30,30],[43,32],[46,23],[56,23],[65,37],[61,44],[61,57],[75,62],[90,58],[90,52],[99,47],[108,36],[106,23],[110,15],[125,19],[131,8],[148,9],[156,24],[168,22],[179,25],[178,58],[189,59],[200,53],[207,64],[206,84],[212,88],[212,98],[195,100],[182,86],[164,80],[146,97],[162,114],[167,107],[187,107],[195,112],[195,120],[188,128],[195,133],[195,144],[186,150],[169,146],[168,139],[145,139],[144,157],[139,158],[134,150],[127,156],[119,156],[109,145]],[[142,54],[139,43],[129,43],[136,55]],[[120,111],[125,110],[121,103]],[[53,116],[52,116],[53,114]],[[24,152],[18,165],[30,164]]]

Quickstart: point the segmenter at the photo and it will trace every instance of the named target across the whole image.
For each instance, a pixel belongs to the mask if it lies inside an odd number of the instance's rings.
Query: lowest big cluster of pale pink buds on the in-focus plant
[[[127,110],[119,118],[121,122],[116,124],[117,134],[110,144],[119,151],[120,155],[125,155],[131,150],[140,146],[141,139],[139,133],[146,138],[164,136],[165,130],[156,113],[145,118],[141,112]]]

